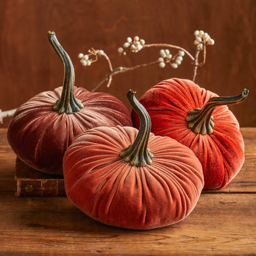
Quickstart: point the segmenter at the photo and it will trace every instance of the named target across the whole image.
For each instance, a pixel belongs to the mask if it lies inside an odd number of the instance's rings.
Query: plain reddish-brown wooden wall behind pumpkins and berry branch
[[[236,95],[244,88],[249,97],[230,106],[241,126],[256,125],[256,1],[255,0],[1,0],[0,1],[0,108],[17,108],[35,94],[61,86],[63,66],[50,46],[47,31],[55,31],[76,72],[76,86],[90,90],[108,73],[104,59],[83,67],[77,54],[91,47],[104,50],[113,67],[129,67],[157,60],[158,50],[121,57],[117,48],[127,36],[146,43],[179,45],[194,54],[194,31],[207,31],[215,40],[207,47],[206,64],[196,82],[219,95]],[[126,92],[147,89],[166,78],[192,78],[185,57],[178,69],[140,68],[113,77],[105,91],[128,107]],[[7,127],[10,119],[6,118]]]

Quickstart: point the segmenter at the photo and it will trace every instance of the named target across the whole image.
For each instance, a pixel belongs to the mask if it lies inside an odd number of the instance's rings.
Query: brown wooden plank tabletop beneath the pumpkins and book
[[[241,128],[245,163],[206,190],[183,221],[127,230],[87,217],[67,197],[15,196],[15,155],[0,129],[0,255],[256,255],[256,128]]]

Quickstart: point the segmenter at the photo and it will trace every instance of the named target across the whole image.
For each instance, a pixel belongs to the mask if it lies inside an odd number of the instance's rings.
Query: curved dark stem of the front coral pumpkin
[[[130,90],[127,93],[127,99],[140,117],[140,129],[133,142],[127,148],[124,148],[119,154],[125,162],[129,162],[133,166],[147,166],[152,163],[153,154],[148,148],[148,138],[151,130],[151,120],[147,110],[135,98],[136,92]]]

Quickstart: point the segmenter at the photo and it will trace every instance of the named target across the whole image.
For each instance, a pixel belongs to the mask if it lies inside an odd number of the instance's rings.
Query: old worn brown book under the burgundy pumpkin
[[[17,196],[66,196],[62,175],[39,172],[18,157],[15,165]]]

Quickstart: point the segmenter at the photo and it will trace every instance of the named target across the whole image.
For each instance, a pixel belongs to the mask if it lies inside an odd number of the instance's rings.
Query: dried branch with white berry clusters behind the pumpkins
[[[155,65],[158,63],[159,67],[164,68],[167,64],[170,64],[172,68],[178,68],[178,66],[181,64],[183,60],[183,56],[185,54],[188,55],[188,57],[192,60],[193,63],[193,81],[195,82],[196,75],[197,75],[197,69],[198,67],[202,67],[205,63],[206,60],[206,45],[213,45],[214,40],[211,39],[211,37],[207,34],[204,33],[202,30],[196,30],[195,33],[195,41],[194,44],[196,45],[196,52],[195,52],[195,57],[193,57],[192,54],[190,54],[186,49],[177,46],[177,45],[172,45],[172,44],[166,44],[166,43],[157,43],[157,44],[145,44],[145,41],[143,39],[140,39],[138,36],[135,36],[133,39],[131,37],[127,37],[127,42],[124,43],[123,47],[118,48],[118,53],[126,55],[128,52],[139,52],[142,49],[146,49],[149,47],[163,47],[164,49],[161,49],[159,51],[161,57],[158,58],[157,61],[152,61],[149,63],[144,63],[141,65],[133,66],[133,67],[118,67],[113,69],[111,61],[108,57],[108,55],[103,52],[102,50],[94,50],[91,48],[88,52],[89,54],[83,54],[79,53],[78,58],[81,61],[81,64],[83,66],[91,66],[91,64],[95,61],[97,61],[100,57],[104,57],[109,66],[109,73],[105,75],[100,82],[97,83],[91,90],[94,92],[97,90],[103,83],[105,83],[108,80],[107,87],[110,86],[112,82],[112,78],[114,75],[117,75],[119,73],[124,73],[127,71],[132,71],[137,68],[141,67],[146,67],[150,65]],[[169,49],[176,49],[178,52],[174,55],[170,53]],[[203,60],[202,62],[199,63],[199,55],[203,51]],[[2,111],[0,109],[0,123],[3,123],[3,118],[7,116],[12,116],[14,114],[16,109],[12,110],[7,110],[7,111]]]

